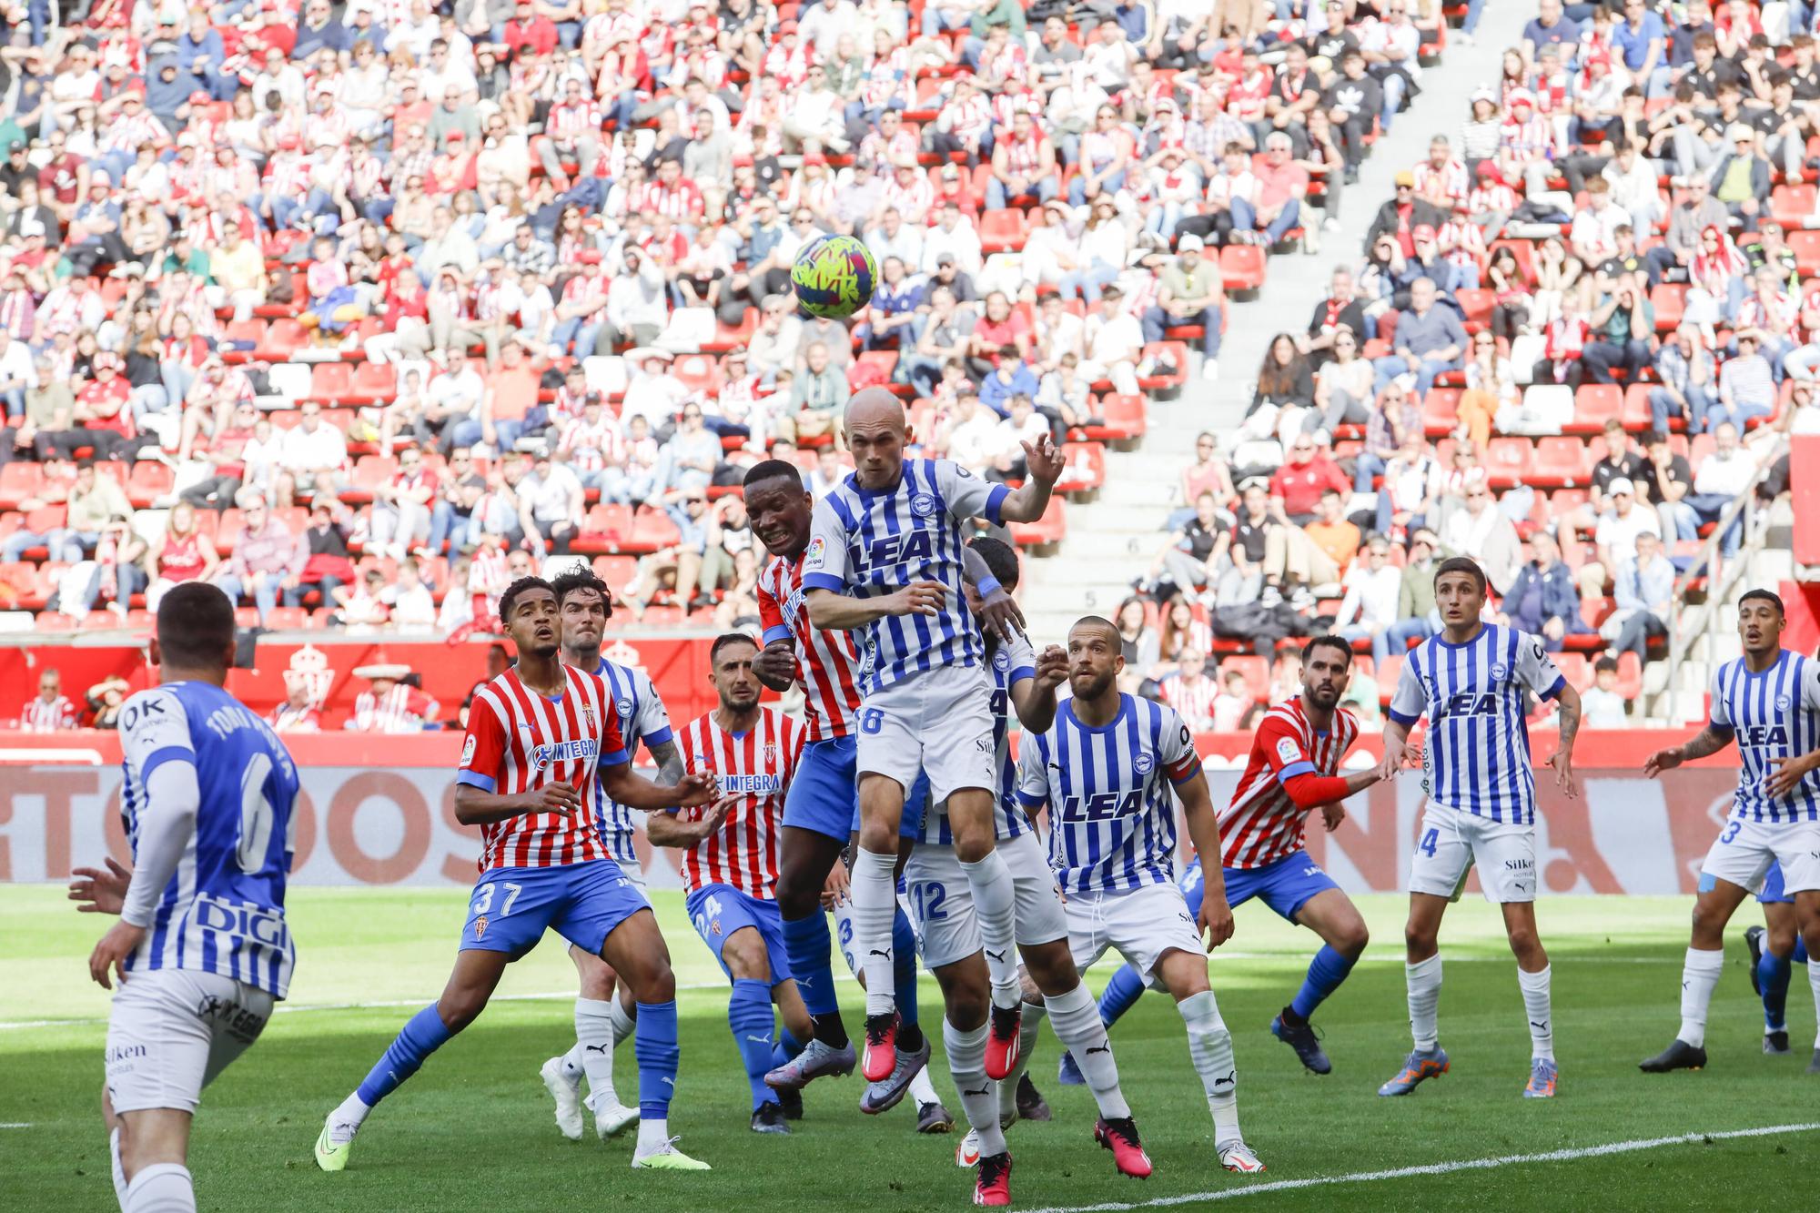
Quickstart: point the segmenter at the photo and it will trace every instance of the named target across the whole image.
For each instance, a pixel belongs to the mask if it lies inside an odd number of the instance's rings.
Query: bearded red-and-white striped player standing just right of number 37
[[[688,851],[682,885],[690,922],[733,984],[726,1022],[746,1064],[752,1131],[788,1133],[783,1100],[764,1076],[795,1058],[814,1031],[790,980],[783,916],[772,900],[784,792],[803,758],[803,729],[759,707],[757,656],[757,641],[744,632],[715,639],[708,665],[721,707],[682,730],[682,761],[690,772],[712,774],[724,800],[712,810],[652,814],[646,832],[655,845]],[[781,1036],[772,1004],[784,1016]],[[801,1116],[801,1096],[792,1111]]]

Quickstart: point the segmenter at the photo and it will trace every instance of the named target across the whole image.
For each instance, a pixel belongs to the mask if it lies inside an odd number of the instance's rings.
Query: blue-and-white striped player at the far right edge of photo
[[[1820,954],[1820,661],[1784,648],[1782,627],[1778,596],[1744,594],[1738,599],[1744,656],[1713,674],[1707,727],[1643,763],[1643,774],[1654,778],[1738,743],[1733,810],[1700,865],[1693,938],[1682,967],[1682,1027],[1667,1049],[1642,1064],[1647,1073],[1705,1065],[1705,1016],[1725,963],[1725,923],[1778,863],[1807,954]],[[1820,965],[1809,962],[1807,982],[1820,1011]],[[1820,1075],[1820,1038],[1807,1073]]]

